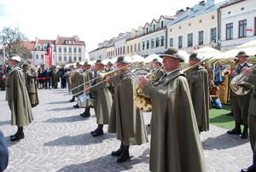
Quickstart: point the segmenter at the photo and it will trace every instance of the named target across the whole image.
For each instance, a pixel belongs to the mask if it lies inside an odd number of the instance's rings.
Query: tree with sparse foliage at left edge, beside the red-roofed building
[[[8,45],[5,48],[5,57],[8,58],[10,54],[19,54],[23,60],[32,59],[32,53],[24,43],[28,39],[18,28],[4,27],[0,36],[3,37],[2,44],[4,41]],[[1,49],[1,54],[3,54],[3,49]]]

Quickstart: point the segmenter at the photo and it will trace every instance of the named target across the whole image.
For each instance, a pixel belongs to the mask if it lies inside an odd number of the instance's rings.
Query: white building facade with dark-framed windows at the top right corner
[[[256,39],[255,5],[255,0],[232,0],[219,8],[222,51]]]

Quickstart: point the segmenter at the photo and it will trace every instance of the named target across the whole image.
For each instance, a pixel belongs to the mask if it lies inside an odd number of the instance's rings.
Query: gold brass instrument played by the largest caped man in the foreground
[[[204,60],[201,60],[200,62],[196,63],[194,66],[184,66],[182,68],[182,72],[188,72],[190,69],[195,68],[196,66],[200,66],[201,64],[203,64],[204,62],[206,62],[207,60],[212,59],[213,57],[210,58],[206,58]],[[162,68],[163,66],[160,66],[160,68]],[[145,77],[150,81],[150,83],[152,83],[155,87],[158,86],[160,84],[160,82],[156,82],[156,72],[158,72],[158,70],[160,70],[160,68],[158,68],[156,71],[154,72],[150,72],[148,73]],[[148,95],[143,95],[143,88],[140,85],[137,85],[135,92],[134,92],[134,103],[135,106],[137,106],[137,108],[150,112],[152,109],[152,100]]]

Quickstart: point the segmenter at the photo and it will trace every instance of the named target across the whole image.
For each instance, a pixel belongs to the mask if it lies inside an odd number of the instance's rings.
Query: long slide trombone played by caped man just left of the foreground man
[[[99,76],[98,76],[98,77],[94,77],[93,79],[90,79],[89,81],[87,81],[87,82],[85,82],[85,83],[82,83],[82,84],[78,85],[77,87],[74,87],[73,89],[70,89],[69,92],[70,92],[70,94],[73,95],[73,96],[79,95],[80,93],[84,93],[84,92],[86,92],[88,89],[94,88],[94,87],[96,87],[97,85],[99,85],[99,84],[105,82],[105,81],[106,81],[106,78],[107,78],[108,76],[112,75],[113,73],[119,72],[119,71],[124,70],[124,69],[126,69],[126,68],[129,68],[129,67],[131,67],[131,66],[137,66],[138,63],[139,63],[139,62],[134,62],[134,63],[131,63],[131,64],[127,65],[127,66],[123,66],[123,67],[120,67],[120,68],[115,69],[115,70],[113,70],[113,71],[106,72],[106,73],[102,73],[102,72],[101,72],[101,73],[99,73]],[[94,82],[94,81],[95,81],[96,79],[98,79],[98,78],[101,78],[102,82],[96,83],[96,84],[90,86],[89,88],[85,88],[85,89],[83,89],[83,90],[81,90],[81,91],[79,91],[79,92],[77,92],[77,93],[75,93],[75,94],[72,93],[74,89],[78,89],[79,87],[82,87],[82,86],[84,86],[84,85],[86,85],[86,84],[88,84],[88,83],[92,83],[92,82]]]

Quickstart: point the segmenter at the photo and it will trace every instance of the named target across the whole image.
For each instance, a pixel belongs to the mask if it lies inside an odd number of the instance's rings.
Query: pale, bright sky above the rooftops
[[[207,0],[206,0],[207,1]],[[215,0],[215,3],[224,0]],[[0,32],[18,27],[34,41],[78,36],[87,53],[98,43],[131,32],[138,26],[174,15],[178,9],[193,7],[200,0],[0,0]]]

